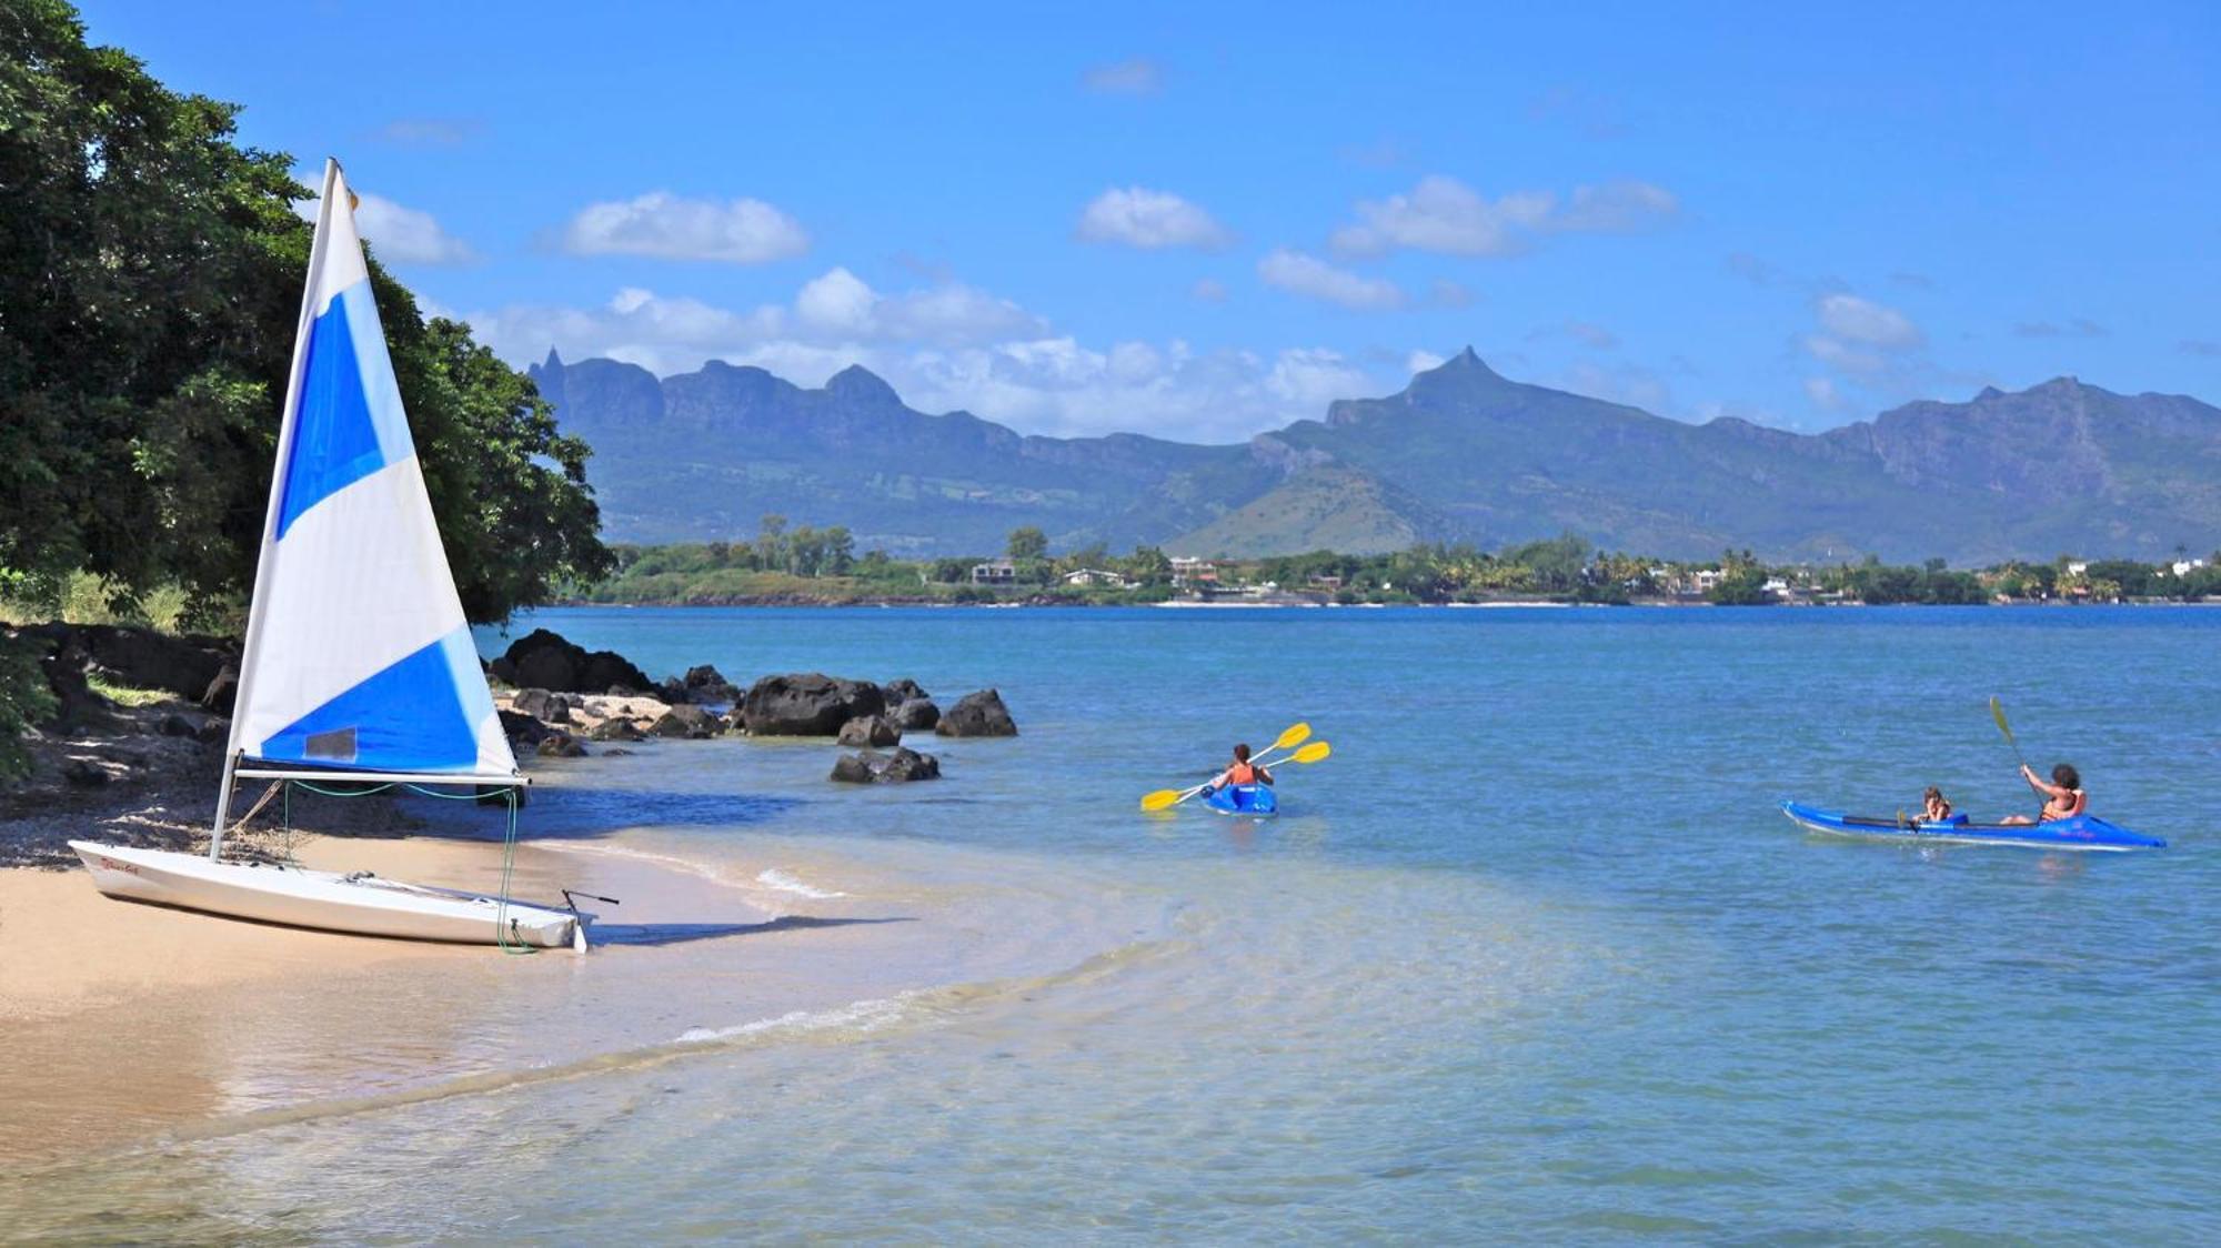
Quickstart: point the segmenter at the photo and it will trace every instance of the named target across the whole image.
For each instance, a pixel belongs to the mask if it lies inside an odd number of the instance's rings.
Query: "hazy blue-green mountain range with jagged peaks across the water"
[[[2221,542],[2221,409],[2074,378],[1803,435],[1513,382],[1466,349],[1401,393],[1199,446],[928,415],[862,366],[804,389],[722,362],[657,380],[551,351],[529,373],[564,431],[593,444],[617,542],[748,537],[766,513],[844,524],[860,551],[913,557],[993,553],[1019,524],[1057,551],[1146,542],[1179,555],[1566,531],[1661,557],[1748,546],[1768,560],[1954,564]]]

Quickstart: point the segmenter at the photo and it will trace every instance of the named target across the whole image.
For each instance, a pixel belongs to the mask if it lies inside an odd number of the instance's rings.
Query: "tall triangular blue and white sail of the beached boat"
[[[309,251],[231,757],[511,779],[338,162]]]

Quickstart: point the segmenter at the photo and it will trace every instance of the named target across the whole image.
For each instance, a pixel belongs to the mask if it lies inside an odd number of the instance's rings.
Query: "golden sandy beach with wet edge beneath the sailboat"
[[[489,842],[333,837],[300,859],[500,884]],[[84,870],[0,870],[0,1170],[591,1061],[735,1013],[824,1008],[871,990],[844,968],[902,939],[900,924],[842,917],[855,906],[837,897],[622,844],[520,846],[513,895],[555,899],[557,886],[622,899],[586,902],[606,946],[504,955],[315,933],[115,902]],[[786,902],[813,917],[782,917]]]

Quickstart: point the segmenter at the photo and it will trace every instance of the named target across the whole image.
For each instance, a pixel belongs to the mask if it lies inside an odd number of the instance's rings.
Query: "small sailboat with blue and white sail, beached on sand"
[[[584,950],[577,910],[222,859],[242,779],[502,788],[511,799],[524,786],[440,546],[353,202],[340,164],[326,162],[209,853],[69,848],[109,897],[340,933]]]

